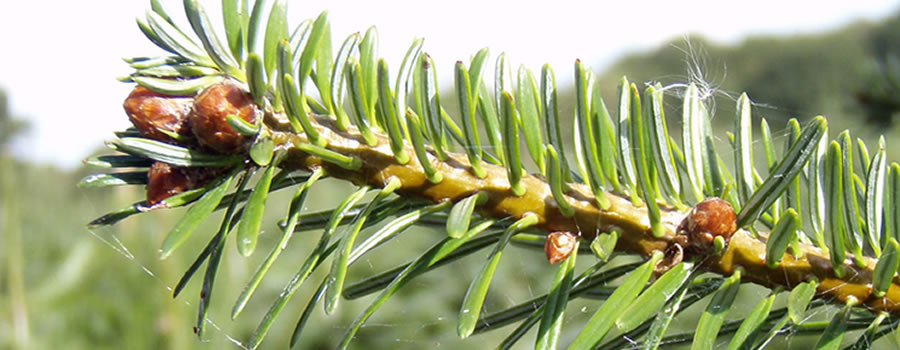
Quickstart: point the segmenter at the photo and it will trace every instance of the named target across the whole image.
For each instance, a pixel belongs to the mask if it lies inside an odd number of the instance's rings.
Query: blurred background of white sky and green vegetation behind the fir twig
[[[636,2],[635,2],[636,3]],[[328,9],[335,47],[344,36],[379,28],[380,52],[396,67],[414,37],[443,72],[452,93],[452,63],[484,46],[492,58],[506,52],[513,67],[538,71],[549,62],[560,89],[562,116],[571,116],[571,66],[593,67],[608,105],[618,80],[670,87],[670,132],[678,132],[680,83],[703,87],[715,104],[714,125],[732,127],[734,100],[746,91],[754,118],[766,118],[776,144],[789,118],[829,118],[832,134],[852,127],[869,149],[878,135],[900,144],[900,3],[752,6],[688,1],[678,5],[618,4],[601,7],[560,2],[547,7],[452,2],[384,4],[291,3],[292,23]],[[186,23],[178,1],[164,1]],[[218,13],[217,2],[205,4]],[[103,140],[128,126],[121,101],[132,86],[115,81],[129,73],[120,58],[161,51],[134,24],[146,2],[107,2],[88,9],[75,2],[5,2],[0,5],[0,349],[228,349],[240,348],[269,303],[293,276],[318,238],[298,234],[263,281],[247,311],[235,321],[231,304],[264,258],[239,256],[228,246],[217,281],[207,336],[192,333],[199,278],[177,299],[171,287],[202,249],[195,235],[172,257],[156,251],[183,210],[129,218],[111,228],[88,230],[90,220],[143,197],[138,187],[80,189],[96,169],[81,160],[104,153]],[[214,22],[216,18],[214,17]],[[489,65],[492,66],[492,65]],[[493,74],[492,70],[486,74]],[[491,75],[489,75],[491,76]],[[445,98],[444,100],[452,100]],[[448,108],[448,110],[453,110]],[[724,135],[724,133],[717,133]],[[758,134],[757,134],[758,135]],[[728,147],[727,139],[719,140]],[[727,158],[730,152],[720,152]],[[761,155],[762,152],[757,152]],[[900,153],[889,153],[892,160]],[[327,181],[311,193],[308,210],[327,209],[352,190]],[[259,251],[280,238],[290,190],[271,197]],[[221,215],[221,214],[218,214]],[[215,232],[218,215],[198,232]],[[415,230],[379,248],[351,269],[359,279],[406,262],[441,232]],[[513,249],[500,264],[488,303],[499,310],[546,292],[555,271],[535,249]],[[360,349],[474,348],[495,346],[513,327],[460,342],[455,335],[459,302],[487,251],[418,278],[379,310],[354,343]],[[324,269],[323,269],[324,270]],[[287,347],[298,315],[325,271],[317,271],[288,304],[264,348]],[[767,295],[745,288],[743,313]],[[298,348],[332,348],[344,327],[371,298],[342,301],[338,313],[317,308]],[[701,303],[702,304],[702,303]],[[591,301],[572,304],[567,322],[581,325]],[[737,310],[740,311],[740,310]],[[733,314],[739,317],[741,314]],[[690,312],[687,313],[688,315]],[[686,315],[685,319],[690,319]],[[826,319],[827,315],[820,315]],[[675,324],[677,324],[677,319]],[[683,325],[681,330],[693,327]],[[572,331],[578,327],[573,326]],[[533,336],[532,336],[533,338]],[[521,341],[529,348],[533,339]],[[808,336],[781,340],[795,347]],[[812,338],[815,341],[815,338]],[[475,345],[473,345],[475,344]],[[877,346],[894,348],[893,337]]]

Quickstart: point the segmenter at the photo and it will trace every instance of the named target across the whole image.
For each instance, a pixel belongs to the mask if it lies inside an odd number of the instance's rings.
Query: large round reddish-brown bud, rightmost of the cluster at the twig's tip
[[[250,93],[236,83],[224,81],[207,87],[194,99],[190,123],[201,145],[220,153],[241,152],[248,138],[234,131],[226,120],[229,115],[255,123],[257,108]]]

